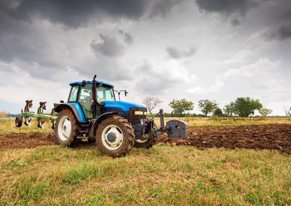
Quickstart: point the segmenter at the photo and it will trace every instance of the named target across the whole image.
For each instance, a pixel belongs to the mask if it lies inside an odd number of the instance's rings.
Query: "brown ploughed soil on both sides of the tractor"
[[[158,143],[205,148],[251,148],[277,149],[291,154],[291,125],[249,125],[249,126],[201,126],[190,127],[185,140],[168,141],[167,135],[158,138]],[[54,133],[11,133],[0,134],[0,149],[32,148],[39,145],[57,144]]]

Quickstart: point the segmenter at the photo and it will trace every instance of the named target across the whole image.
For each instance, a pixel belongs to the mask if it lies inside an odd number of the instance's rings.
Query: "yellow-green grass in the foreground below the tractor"
[[[291,157],[158,144],[123,158],[95,145],[0,151],[0,205],[290,205]]]

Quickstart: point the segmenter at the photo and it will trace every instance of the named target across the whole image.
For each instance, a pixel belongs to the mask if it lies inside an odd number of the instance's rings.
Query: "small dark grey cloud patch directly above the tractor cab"
[[[90,47],[95,54],[100,52],[107,57],[117,57],[125,53],[124,46],[119,43],[115,37],[103,35],[102,33],[99,33],[99,37],[101,41],[94,39],[90,44]]]

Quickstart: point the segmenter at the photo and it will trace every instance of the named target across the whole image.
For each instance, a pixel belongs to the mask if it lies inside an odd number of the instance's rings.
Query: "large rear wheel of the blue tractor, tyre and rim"
[[[80,125],[73,111],[70,109],[62,110],[56,119],[54,128],[57,143],[69,147],[74,147],[81,143],[81,139],[77,139],[81,128]]]

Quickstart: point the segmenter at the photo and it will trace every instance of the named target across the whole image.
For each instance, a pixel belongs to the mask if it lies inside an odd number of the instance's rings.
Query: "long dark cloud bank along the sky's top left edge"
[[[96,23],[120,18],[138,20],[163,16],[183,0],[4,0],[2,12],[25,21],[33,18],[60,23],[65,28],[84,28],[90,19]]]

